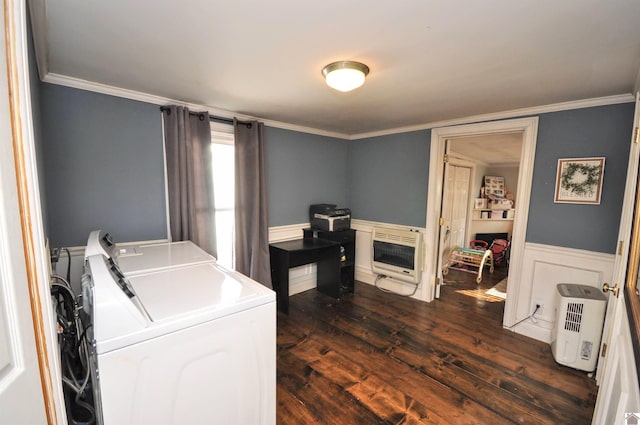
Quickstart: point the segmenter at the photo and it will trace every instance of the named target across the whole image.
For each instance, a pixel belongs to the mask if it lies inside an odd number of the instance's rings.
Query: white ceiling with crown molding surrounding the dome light
[[[347,138],[637,89],[638,0],[31,0],[45,81]],[[320,73],[371,72],[350,93]],[[84,82],[84,81],[83,81]]]

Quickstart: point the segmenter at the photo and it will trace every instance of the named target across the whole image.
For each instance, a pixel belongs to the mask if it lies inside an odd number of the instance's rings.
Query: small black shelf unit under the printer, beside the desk
[[[303,229],[303,237],[325,239],[338,242],[344,248],[344,256],[340,259],[340,282],[335,285],[318,287],[318,291],[333,298],[340,298],[346,293],[353,293],[355,282],[356,263],[356,231],[354,229],[338,230],[330,232],[328,230]]]

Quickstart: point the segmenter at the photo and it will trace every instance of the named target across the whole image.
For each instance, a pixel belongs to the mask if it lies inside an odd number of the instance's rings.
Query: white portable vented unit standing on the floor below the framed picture
[[[607,298],[598,288],[561,283],[557,286],[556,323],[551,352],[556,362],[593,372],[600,351]]]

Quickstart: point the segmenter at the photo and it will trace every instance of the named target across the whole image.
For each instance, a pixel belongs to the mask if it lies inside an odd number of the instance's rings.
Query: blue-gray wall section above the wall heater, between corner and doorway
[[[349,142],[354,218],[424,227],[431,130]]]

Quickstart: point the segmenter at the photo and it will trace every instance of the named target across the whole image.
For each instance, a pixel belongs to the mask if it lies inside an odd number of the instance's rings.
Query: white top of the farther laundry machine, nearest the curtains
[[[118,250],[118,266],[125,275],[162,270],[216,259],[191,241],[137,245]]]

